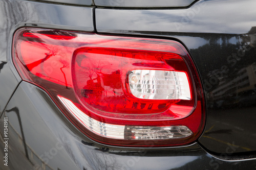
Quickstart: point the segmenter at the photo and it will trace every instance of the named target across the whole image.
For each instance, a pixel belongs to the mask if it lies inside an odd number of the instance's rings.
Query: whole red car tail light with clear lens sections
[[[22,28],[13,61],[97,142],[181,145],[203,130],[200,79],[177,41]]]

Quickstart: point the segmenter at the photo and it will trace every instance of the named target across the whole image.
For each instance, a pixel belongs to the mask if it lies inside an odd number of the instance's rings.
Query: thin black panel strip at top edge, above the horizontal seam
[[[129,8],[155,8],[155,7],[187,7],[196,0],[94,0],[99,7],[129,7]]]

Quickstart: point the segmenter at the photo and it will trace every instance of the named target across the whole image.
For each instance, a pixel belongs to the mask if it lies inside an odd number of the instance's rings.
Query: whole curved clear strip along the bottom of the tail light
[[[84,114],[73,102],[58,95],[61,103],[87,129],[98,135],[115,139],[155,140],[184,138],[193,134],[186,126],[139,127],[99,122]]]

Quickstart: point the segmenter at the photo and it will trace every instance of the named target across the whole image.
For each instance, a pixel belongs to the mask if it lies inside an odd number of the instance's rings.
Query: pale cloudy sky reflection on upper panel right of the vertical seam
[[[204,4],[204,5],[203,5]],[[202,6],[203,5],[203,6]],[[198,2],[189,9],[96,9],[96,28],[105,30],[248,33],[256,26],[256,1]],[[190,19],[187,18],[190,16]]]

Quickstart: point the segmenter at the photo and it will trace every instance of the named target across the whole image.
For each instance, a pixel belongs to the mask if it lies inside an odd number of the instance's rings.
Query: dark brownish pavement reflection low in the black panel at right
[[[208,124],[199,142],[216,153],[225,153],[229,145],[236,147],[234,153],[256,151],[255,113],[255,106],[208,111]]]

